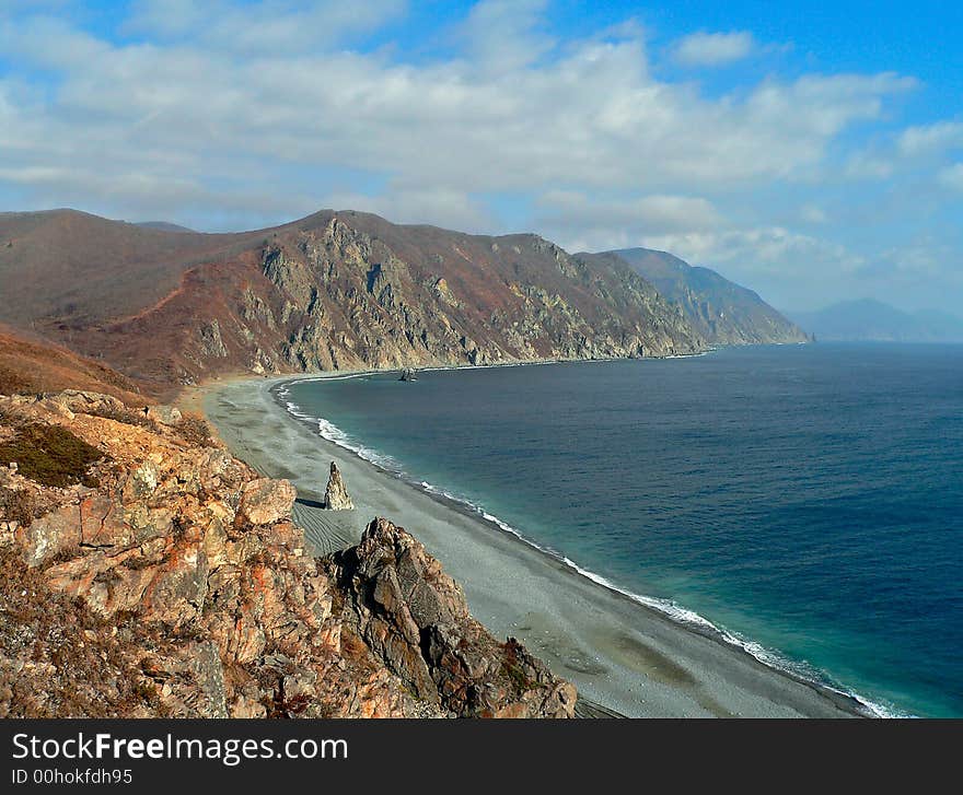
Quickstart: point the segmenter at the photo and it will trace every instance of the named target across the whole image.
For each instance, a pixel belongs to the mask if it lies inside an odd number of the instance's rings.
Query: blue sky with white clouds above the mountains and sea
[[[963,314],[963,4],[0,0],[0,211],[322,208]]]

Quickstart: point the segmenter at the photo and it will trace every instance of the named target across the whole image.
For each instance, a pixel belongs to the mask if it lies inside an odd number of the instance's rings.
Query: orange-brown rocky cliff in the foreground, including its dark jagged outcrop
[[[572,714],[410,535],[314,560],[293,500],[173,412],[0,397],[0,715]]]

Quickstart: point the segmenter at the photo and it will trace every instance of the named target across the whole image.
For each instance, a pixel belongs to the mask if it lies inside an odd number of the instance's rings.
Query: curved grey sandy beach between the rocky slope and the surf
[[[847,717],[845,695],[769,668],[710,631],[604,587],[550,556],[317,435],[270,388],[287,378],[206,387],[202,407],[237,457],[298,488],[294,518],[320,554],[348,546],[374,516],[421,540],[496,635],[520,639],[581,697],[638,717]],[[320,507],[336,460],[356,510]]]

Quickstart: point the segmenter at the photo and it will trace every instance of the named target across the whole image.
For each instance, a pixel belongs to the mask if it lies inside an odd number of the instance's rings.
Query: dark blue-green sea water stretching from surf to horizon
[[[963,347],[396,377],[287,399],[626,591],[892,711],[963,715]]]

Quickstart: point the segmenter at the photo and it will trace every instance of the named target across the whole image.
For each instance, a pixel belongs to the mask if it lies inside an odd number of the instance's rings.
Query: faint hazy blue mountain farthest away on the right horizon
[[[885,342],[963,341],[963,319],[947,313],[903,312],[871,299],[844,301],[819,312],[796,313],[816,339]]]

